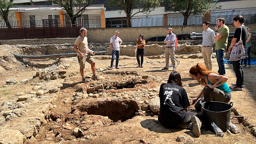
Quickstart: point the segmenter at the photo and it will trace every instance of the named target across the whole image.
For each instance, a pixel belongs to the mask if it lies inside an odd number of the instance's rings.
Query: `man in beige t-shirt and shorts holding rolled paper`
[[[89,64],[91,64],[91,68],[93,71],[92,80],[100,80],[100,78],[96,76],[95,61],[93,57],[91,57],[88,54],[89,48],[88,48],[88,41],[87,41],[86,34],[87,34],[87,29],[81,28],[80,35],[78,36],[74,44],[74,49],[78,53],[78,62],[80,66],[80,74],[82,76],[83,83],[89,82],[89,80],[87,80],[84,75],[85,62],[88,62]]]

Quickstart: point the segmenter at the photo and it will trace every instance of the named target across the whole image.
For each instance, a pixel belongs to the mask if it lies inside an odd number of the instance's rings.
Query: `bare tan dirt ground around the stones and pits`
[[[3,52],[3,51],[2,51]],[[1,54],[4,55],[4,54]],[[120,56],[119,65],[121,69],[113,69],[113,70],[103,70],[100,71],[100,68],[106,68],[110,65],[110,59],[103,59],[102,57],[110,56],[94,56],[96,61],[96,71],[98,76],[103,76],[106,80],[116,80],[122,79],[123,75],[106,75],[104,72],[106,71],[136,71],[139,75],[153,75],[160,76],[163,78],[165,82],[168,80],[168,76],[171,73],[171,69],[167,71],[161,71],[161,69],[165,66],[165,59],[148,59],[144,57],[144,68],[136,68],[136,59],[135,57],[128,56]],[[180,65],[177,67],[176,71],[181,74],[183,87],[186,89],[190,103],[192,103],[192,99],[196,97],[200,91],[202,90],[202,86],[197,81],[193,80],[189,75],[189,69],[194,66],[196,63],[203,63],[203,59],[178,59],[181,61]],[[60,94],[58,100],[53,103],[56,105],[51,112],[56,113],[59,112],[61,114],[68,115],[71,112],[72,104],[64,104],[63,101],[67,98],[73,97],[73,94],[76,92],[75,85],[81,81],[81,76],[79,73],[79,64],[77,62],[76,57],[70,58],[62,58],[62,62],[69,64],[70,67],[67,69],[67,75],[73,74],[72,77],[67,76],[65,80],[56,79],[54,81],[59,81],[60,83],[69,83],[73,84],[73,87],[67,87],[65,89],[60,90]],[[43,68],[50,67],[55,64],[56,61],[44,61],[44,62],[33,62],[29,61],[31,64],[26,66],[22,63],[13,63],[11,66],[8,66],[9,70],[0,69],[1,78],[0,78],[0,104],[5,101],[16,101],[18,96],[17,92],[23,91],[25,94],[29,94],[32,91],[32,88],[35,83],[40,82],[39,78],[33,78],[36,74],[36,70],[33,70],[32,67]],[[34,64],[33,64],[34,63]],[[235,83],[236,77],[233,71],[232,64],[225,64],[226,68],[226,76],[228,76],[229,80],[227,84],[230,86],[231,83]],[[86,64],[85,75],[92,75],[92,71],[90,69],[90,65]],[[213,59],[213,70],[217,71],[218,66],[216,59]],[[87,137],[72,137],[69,140],[65,140],[66,144],[174,144],[174,143],[186,143],[186,144],[217,144],[217,143],[225,143],[225,144],[242,144],[256,143],[255,138],[255,125],[256,125],[256,89],[254,89],[254,84],[256,83],[256,66],[251,65],[251,68],[244,68],[244,83],[245,88],[243,91],[231,91],[231,102],[234,102],[233,112],[231,116],[234,115],[243,115],[244,119],[242,121],[238,121],[238,119],[232,119],[233,122],[238,128],[240,128],[241,133],[238,134],[228,134],[225,132],[224,137],[217,137],[214,133],[202,129],[201,136],[196,137],[192,130],[187,129],[168,129],[160,124],[157,120],[157,115],[154,116],[135,116],[127,121],[121,122],[110,122],[111,124],[106,124],[103,126],[97,125],[98,123],[104,123],[102,116],[90,115],[87,119],[90,119],[92,123],[92,127],[87,131]],[[14,84],[5,85],[5,81],[9,78],[16,78],[17,81],[22,81],[26,78],[31,79],[31,82],[26,84]],[[80,83],[79,83],[80,84]],[[148,84],[140,84],[135,88],[126,89],[126,91],[136,91],[137,89],[148,89],[159,87],[161,83],[157,83],[154,80],[151,80]],[[120,90],[108,90],[112,93],[119,93]],[[101,98],[92,98],[89,97],[85,101],[87,104],[96,103]],[[150,101],[149,98],[145,97],[145,100]],[[189,111],[195,111],[194,106],[189,107]],[[66,121],[65,121],[66,122]],[[72,122],[72,120],[70,120]],[[43,125],[41,130],[39,131],[39,136],[36,137],[37,143],[58,143],[59,140],[54,139],[53,141],[45,141],[45,135],[49,131],[52,125],[56,124],[54,121],[50,121],[49,123]],[[72,124],[74,124],[72,122]],[[71,133],[71,132],[67,132]],[[67,134],[68,135],[68,134]],[[175,139],[177,136],[183,135],[187,137],[187,140],[183,142],[176,142]],[[25,142],[26,143],[26,142]],[[28,143],[28,142],[27,142]]]

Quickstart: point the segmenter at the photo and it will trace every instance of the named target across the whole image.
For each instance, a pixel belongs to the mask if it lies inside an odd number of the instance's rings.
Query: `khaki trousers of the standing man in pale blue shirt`
[[[211,56],[213,55],[213,47],[204,47],[202,46],[202,56],[204,60],[204,65],[208,70],[213,70],[213,61]]]

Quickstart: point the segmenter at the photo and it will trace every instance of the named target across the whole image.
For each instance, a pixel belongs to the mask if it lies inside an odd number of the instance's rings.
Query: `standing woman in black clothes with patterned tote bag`
[[[231,52],[233,46],[235,43],[240,41],[240,37],[242,37],[243,46],[245,46],[246,42],[246,36],[248,35],[247,28],[243,25],[244,18],[241,15],[237,15],[235,18],[233,18],[234,25],[236,27],[236,31],[234,34],[234,37],[231,41],[230,47],[228,48],[229,52]],[[236,83],[233,83],[231,87],[229,87],[232,90],[243,90],[244,87],[244,71],[243,71],[243,61],[232,61],[233,69],[236,74]]]

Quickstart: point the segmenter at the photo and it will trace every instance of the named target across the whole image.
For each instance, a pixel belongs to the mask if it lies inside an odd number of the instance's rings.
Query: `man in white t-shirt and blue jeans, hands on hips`
[[[119,69],[118,62],[119,62],[119,55],[120,55],[120,46],[123,41],[120,39],[120,37],[118,37],[118,35],[119,35],[119,31],[116,30],[115,35],[110,38],[110,47],[112,48],[112,59],[111,59],[110,69],[113,69],[115,55],[116,55],[115,67],[116,67],[116,69]],[[120,44],[119,44],[119,42],[120,42]]]

